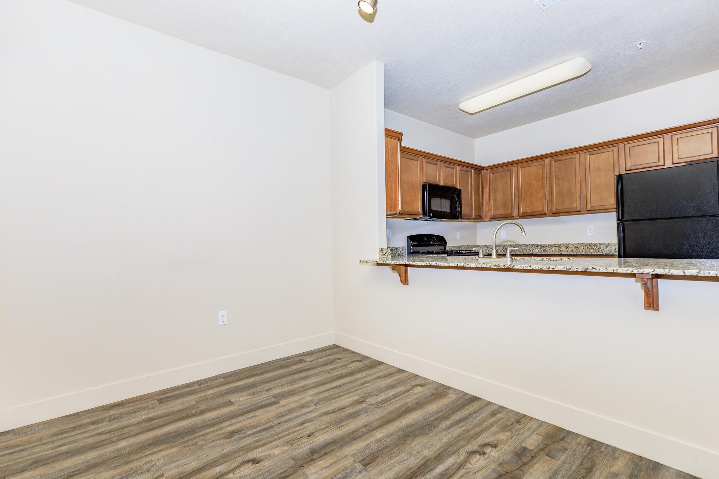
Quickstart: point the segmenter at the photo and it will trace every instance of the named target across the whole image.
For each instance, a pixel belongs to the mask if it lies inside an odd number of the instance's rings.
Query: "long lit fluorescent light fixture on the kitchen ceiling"
[[[467,113],[477,113],[478,111],[516,100],[516,98],[521,98],[529,93],[580,77],[591,69],[592,64],[587,62],[585,57],[572,58],[567,62],[463,101],[459,103],[459,109]]]

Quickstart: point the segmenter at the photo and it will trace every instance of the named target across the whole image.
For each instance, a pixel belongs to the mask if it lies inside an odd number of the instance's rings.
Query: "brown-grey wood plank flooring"
[[[339,346],[0,433],[6,479],[686,479]]]

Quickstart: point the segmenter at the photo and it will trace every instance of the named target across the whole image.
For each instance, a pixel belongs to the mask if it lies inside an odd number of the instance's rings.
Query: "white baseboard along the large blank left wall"
[[[0,411],[0,432],[334,344],[334,333],[247,351]]]

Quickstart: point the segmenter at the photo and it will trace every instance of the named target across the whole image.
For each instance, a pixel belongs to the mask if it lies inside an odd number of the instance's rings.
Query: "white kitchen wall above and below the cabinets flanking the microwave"
[[[469,136],[445,130],[411,116],[385,109],[385,126],[401,131],[402,144],[406,147],[421,149],[423,152],[441,154],[444,157],[475,161],[475,141]],[[381,175],[383,175],[384,167]],[[406,246],[407,236],[417,233],[439,234],[451,245],[477,243],[476,223],[438,223],[435,221],[416,221],[388,219],[387,228],[392,230],[392,238],[387,238],[388,246]],[[457,238],[459,232],[459,238]]]

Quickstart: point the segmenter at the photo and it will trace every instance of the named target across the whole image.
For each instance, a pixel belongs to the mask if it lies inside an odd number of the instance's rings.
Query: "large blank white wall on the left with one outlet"
[[[58,0],[0,58],[0,429],[332,343],[329,90]]]

